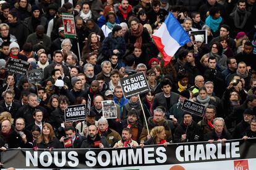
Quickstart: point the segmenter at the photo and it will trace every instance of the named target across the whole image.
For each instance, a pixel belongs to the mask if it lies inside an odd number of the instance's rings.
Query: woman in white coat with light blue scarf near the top
[[[109,12],[106,15],[106,20],[107,22],[105,23],[105,25],[101,27],[101,30],[103,31],[105,37],[108,37],[109,33],[112,32],[112,29],[114,28],[114,26],[117,25],[116,14],[114,14],[113,12]]]

